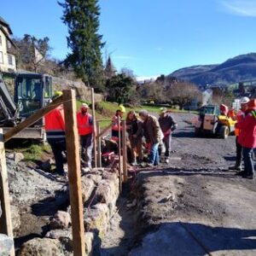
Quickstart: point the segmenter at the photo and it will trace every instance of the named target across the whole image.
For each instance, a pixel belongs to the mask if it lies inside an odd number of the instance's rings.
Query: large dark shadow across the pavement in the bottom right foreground
[[[223,251],[222,255],[229,251],[236,251],[238,255],[241,251],[256,249],[255,236],[256,230],[213,227],[199,223],[166,223],[160,224],[156,232],[145,236],[143,246],[130,255],[203,256],[220,251]],[[254,255],[252,252],[248,254]]]

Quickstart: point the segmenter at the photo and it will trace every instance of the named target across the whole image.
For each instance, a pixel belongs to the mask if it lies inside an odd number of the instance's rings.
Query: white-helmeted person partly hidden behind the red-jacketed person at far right
[[[241,97],[240,104],[241,108],[238,113],[236,113],[236,120],[237,124],[241,123],[242,120],[245,118],[245,112],[247,110],[247,103],[250,101],[248,97]],[[235,166],[230,166],[229,170],[236,170],[239,171],[238,175],[242,175],[243,172],[241,172],[241,154],[242,154],[242,146],[239,143],[239,137],[240,137],[241,129],[239,128],[239,125],[235,126],[235,135],[236,135],[236,164]]]

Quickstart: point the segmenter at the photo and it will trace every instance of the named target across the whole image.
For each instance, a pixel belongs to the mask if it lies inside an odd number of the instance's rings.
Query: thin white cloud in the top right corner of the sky
[[[222,0],[222,6],[233,15],[256,17],[255,0]]]

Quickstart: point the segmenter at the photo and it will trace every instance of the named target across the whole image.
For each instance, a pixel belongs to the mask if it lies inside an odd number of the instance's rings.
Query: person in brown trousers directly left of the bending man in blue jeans
[[[127,113],[126,127],[131,144],[131,166],[137,166],[143,161],[143,122],[133,110]]]

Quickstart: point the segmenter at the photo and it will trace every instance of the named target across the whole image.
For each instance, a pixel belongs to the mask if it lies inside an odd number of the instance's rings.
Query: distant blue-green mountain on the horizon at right
[[[228,85],[246,80],[256,80],[256,53],[238,55],[218,65],[184,67],[169,77],[198,85]]]

